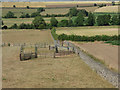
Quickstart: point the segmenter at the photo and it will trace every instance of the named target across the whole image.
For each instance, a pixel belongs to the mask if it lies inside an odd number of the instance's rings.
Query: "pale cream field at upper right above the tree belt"
[[[102,8],[99,8],[99,9],[96,9],[94,11],[95,13],[118,13],[120,12],[118,10],[118,6],[106,6],[106,7],[102,7]]]

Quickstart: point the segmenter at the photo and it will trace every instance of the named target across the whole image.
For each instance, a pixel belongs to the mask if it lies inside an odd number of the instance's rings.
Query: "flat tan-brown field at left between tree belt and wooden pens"
[[[4,43],[52,43],[50,30],[3,30],[2,42]]]

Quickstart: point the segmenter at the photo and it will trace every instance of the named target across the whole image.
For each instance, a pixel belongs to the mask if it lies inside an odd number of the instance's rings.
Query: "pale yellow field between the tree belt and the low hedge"
[[[118,35],[117,26],[93,26],[93,27],[61,27],[57,28],[57,34],[67,34],[67,35]]]

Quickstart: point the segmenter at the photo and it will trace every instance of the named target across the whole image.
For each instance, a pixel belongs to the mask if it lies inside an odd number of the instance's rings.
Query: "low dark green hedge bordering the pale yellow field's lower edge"
[[[58,36],[59,40],[71,40],[71,41],[113,41],[113,40],[119,40],[120,35],[113,35],[113,36],[107,36],[107,35],[96,35],[96,36],[78,36],[78,35],[66,35],[61,34]]]

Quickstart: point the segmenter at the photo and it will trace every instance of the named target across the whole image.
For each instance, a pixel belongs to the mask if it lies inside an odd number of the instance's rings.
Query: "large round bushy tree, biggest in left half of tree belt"
[[[36,29],[45,29],[46,28],[46,23],[41,16],[35,17],[35,19],[33,20],[32,23]]]

